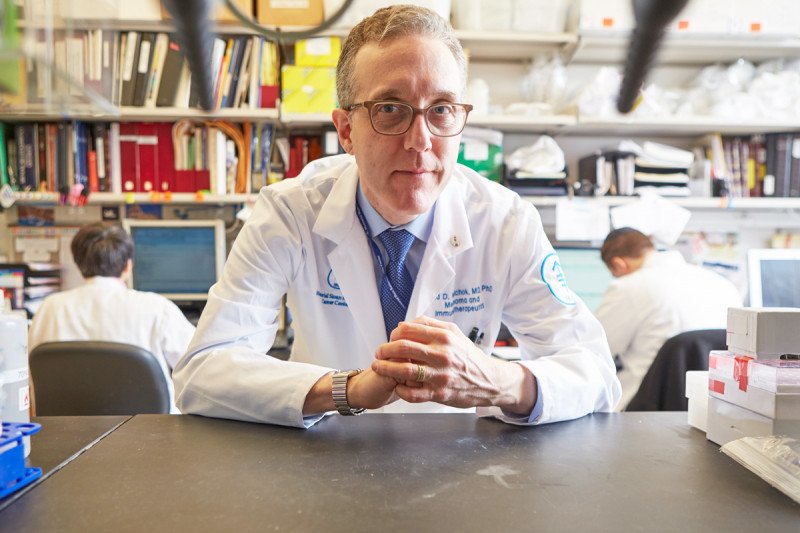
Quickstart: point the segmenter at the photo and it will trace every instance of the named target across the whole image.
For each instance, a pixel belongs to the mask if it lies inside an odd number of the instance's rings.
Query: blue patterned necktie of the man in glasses
[[[381,280],[380,288],[383,323],[386,325],[386,338],[388,339],[398,322],[405,319],[411,291],[414,290],[414,281],[405,265],[408,250],[414,243],[414,236],[401,229],[398,231],[386,230],[378,235],[378,238],[389,256],[386,275]]]

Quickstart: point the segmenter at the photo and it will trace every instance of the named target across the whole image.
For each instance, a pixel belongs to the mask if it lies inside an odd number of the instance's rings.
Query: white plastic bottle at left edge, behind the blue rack
[[[28,321],[0,311],[0,420],[30,422]],[[25,437],[25,456],[30,437]]]

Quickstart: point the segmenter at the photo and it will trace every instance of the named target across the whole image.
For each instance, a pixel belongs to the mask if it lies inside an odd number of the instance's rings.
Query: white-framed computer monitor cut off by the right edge
[[[800,249],[747,251],[751,307],[800,307]]]

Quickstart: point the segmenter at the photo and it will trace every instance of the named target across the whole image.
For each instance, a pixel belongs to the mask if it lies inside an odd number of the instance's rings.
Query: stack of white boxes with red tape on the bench
[[[708,359],[708,439],[800,437],[800,309],[732,308],[727,331]]]

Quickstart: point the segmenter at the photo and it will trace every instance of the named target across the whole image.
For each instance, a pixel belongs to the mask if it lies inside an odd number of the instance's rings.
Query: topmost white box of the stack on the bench
[[[728,350],[756,359],[779,359],[800,353],[800,309],[731,307]]]

